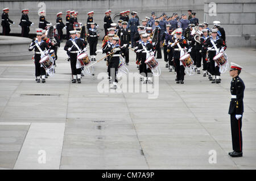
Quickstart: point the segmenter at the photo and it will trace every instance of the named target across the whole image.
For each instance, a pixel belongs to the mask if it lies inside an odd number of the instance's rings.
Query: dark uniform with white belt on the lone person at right
[[[232,145],[234,151],[242,151],[242,117],[236,119],[236,115],[243,115],[243,92],[245,84],[242,79],[237,76],[232,78],[230,92],[232,99],[230,100],[229,114],[232,133]]]

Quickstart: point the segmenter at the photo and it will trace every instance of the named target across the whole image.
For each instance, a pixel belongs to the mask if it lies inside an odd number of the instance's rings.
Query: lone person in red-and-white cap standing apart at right
[[[240,65],[231,63],[229,75],[232,77],[230,86],[231,100],[229,106],[232,145],[233,152],[230,152],[230,157],[242,157],[242,117],[243,117],[243,92],[245,91],[245,84],[239,77],[242,67]]]

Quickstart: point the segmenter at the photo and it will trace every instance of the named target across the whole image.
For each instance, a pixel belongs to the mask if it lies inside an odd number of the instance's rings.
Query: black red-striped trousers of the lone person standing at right
[[[237,120],[236,115],[230,115],[232,145],[234,151],[242,151],[242,117]]]

